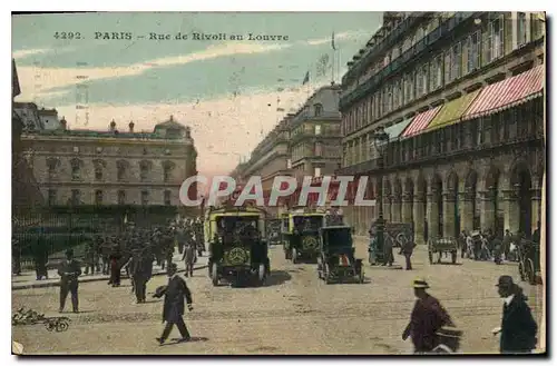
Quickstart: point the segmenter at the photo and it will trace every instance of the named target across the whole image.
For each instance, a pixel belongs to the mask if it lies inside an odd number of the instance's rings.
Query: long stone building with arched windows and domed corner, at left
[[[197,174],[190,129],[172,116],[152,132],[114,120],[105,131],[71,130],[62,119],[59,129],[27,131],[22,145],[49,206],[180,206],[182,182]]]

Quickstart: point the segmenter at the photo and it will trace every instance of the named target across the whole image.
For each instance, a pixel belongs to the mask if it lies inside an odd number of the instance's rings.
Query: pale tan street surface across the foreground
[[[356,256],[365,258],[365,241],[359,240]],[[401,256],[395,256],[402,261]],[[424,247],[413,256],[414,270],[365,265],[365,284],[325,285],[316,265],[286,261],[282,247],[271,249],[272,275],[261,288],[213,287],[206,269],[187,280],[194,310],[185,316],[194,342],[159,347],[162,300],[137,305],[126,283],[111,288],[105,281],[80,285],[80,314],[65,333],[50,333],[41,325],[13,327],[13,340],[26,354],[401,354],[411,352],[401,333],[414,301],[410,287],[414,276],[424,276],[465,332],[461,352],[497,352],[502,303],[495,284],[510,274],[518,280],[515,264],[496,266],[468,259],[458,265],[429,265]],[[148,284],[153,293],[164,276]],[[541,286],[520,283],[538,324]],[[58,287],[12,293],[12,308],[30,307],[58,316]],[[69,303],[69,301],[68,301]],[[170,335],[178,337],[175,329]]]

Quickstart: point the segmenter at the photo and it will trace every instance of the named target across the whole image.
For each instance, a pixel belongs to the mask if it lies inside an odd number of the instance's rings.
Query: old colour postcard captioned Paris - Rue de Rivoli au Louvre
[[[12,14],[12,353],[546,352],[545,12]]]

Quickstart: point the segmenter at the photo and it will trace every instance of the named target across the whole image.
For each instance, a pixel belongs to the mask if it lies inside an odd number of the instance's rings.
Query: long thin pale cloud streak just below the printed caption
[[[84,82],[85,80],[114,79],[137,76],[147,70],[158,67],[169,67],[186,65],[195,61],[203,61],[232,55],[265,53],[277,51],[292,44],[262,44],[262,43],[224,43],[211,46],[203,51],[183,56],[159,58],[145,62],[133,63],[126,67],[104,67],[104,68],[41,68],[41,67],[18,67],[21,96],[18,100],[27,100],[29,97],[45,95],[53,88],[63,88]],[[31,50],[29,50],[30,52]],[[38,52],[38,50],[36,50]],[[20,55],[23,51],[19,51]],[[36,53],[37,53],[36,52]],[[30,55],[30,53],[28,53]],[[82,79],[80,77],[87,77]]]

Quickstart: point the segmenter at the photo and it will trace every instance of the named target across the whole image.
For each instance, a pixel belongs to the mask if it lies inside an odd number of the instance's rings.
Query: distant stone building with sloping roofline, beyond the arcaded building
[[[289,113],[252,151],[248,161],[238,165],[232,176],[247,181],[261,176],[268,195],[276,176],[322,177],[333,175],[341,164],[340,86],[320,88],[295,113]],[[286,207],[267,207],[277,215]]]

